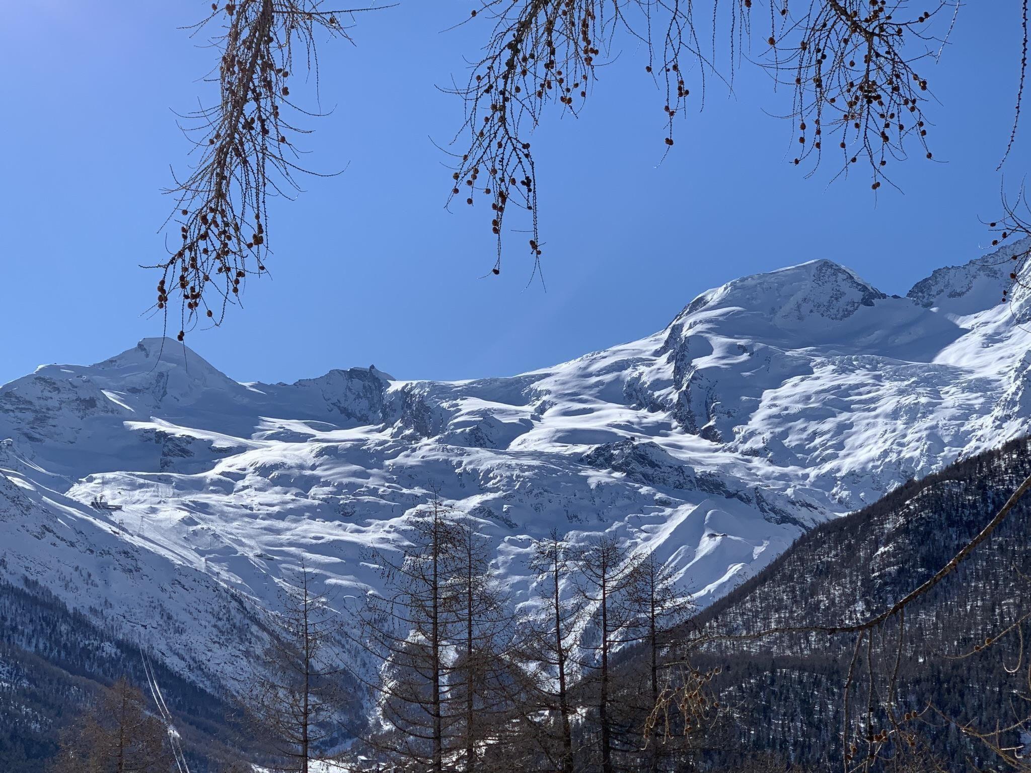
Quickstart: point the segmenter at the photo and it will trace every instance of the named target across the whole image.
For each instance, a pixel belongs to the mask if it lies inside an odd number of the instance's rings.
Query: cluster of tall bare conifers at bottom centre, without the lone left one
[[[376,556],[383,592],[358,610],[354,635],[373,665],[360,677],[369,767],[656,769],[646,731],[661,653],[693,610],[662,562],[611,536],[573,544],[553,531],[530,546],[517,604],[475,518],[433,504],[409,540]],[[620,667],[630,646],[650,653],[646,668]]]

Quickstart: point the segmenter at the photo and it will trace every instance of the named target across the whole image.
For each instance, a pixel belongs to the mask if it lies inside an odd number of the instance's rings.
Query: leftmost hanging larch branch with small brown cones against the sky
[[[239,0],[211,4],[194,35],[221,24],[211,38],[219,51],[218,104],[184,116],[194,142],[193,171],[166,193],[176,197],[166,226],[178,226],[178,243],[161,270],[157,308],[180,305],[179,331],[206,317],[220,325],[229,304],[239,302],[242,282],[265,272],[268,196],[299,192],[293,138],[307,133],[285,115],[306,113],[292,100],[295,55],[318,80],[315,33],[351,40],[340,19],[364,8],[330,10],[323,0]],[[175,299],[174,301],[172,299]]]

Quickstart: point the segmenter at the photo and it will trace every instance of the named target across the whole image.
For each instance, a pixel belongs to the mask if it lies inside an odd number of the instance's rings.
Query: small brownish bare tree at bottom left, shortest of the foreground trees
[[[52,773],[167,773],[165,726],[126,679],[105,691],[62,736]]]

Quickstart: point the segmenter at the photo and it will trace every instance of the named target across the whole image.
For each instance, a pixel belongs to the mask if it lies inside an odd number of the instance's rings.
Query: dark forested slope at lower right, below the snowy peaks
[[[1029,473],[1031,444],[1017,440],[817,527],[704,610],[685,639],[872,617],[947,564]],[[906,726],[918,737],[918,764],[928,766],[921,770],[932,769],[932,760],[955,770],[995,765],[997,755],[974,733],[1031,717],[1021,627],[1012,629],[1031,611],[1029,515],[1031,502],[1018,504],[955,572],[907,607],[901,647],[897,619],[874,629],[862,646],[857,668],[863,690],[872,665],[873,701],[894,703],[898,717],[920,712]],[[817,769],[840,759],[843,687],[856,637],[784,634],[723,641],[696,652],[696,665],[722,667],[713,688],[729,707],[713,732],[716,745],[730,751],[711,758],[728,763],[764,751]],[[896,669],[890,696],[885,674]],[[1013,728],[997,740],[1019,748],[1029,736]]]

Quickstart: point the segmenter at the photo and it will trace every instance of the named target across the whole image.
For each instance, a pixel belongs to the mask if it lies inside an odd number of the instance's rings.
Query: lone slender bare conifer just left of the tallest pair
[[[278,758],[276,770],[308,773],[339,733],[334,721],[348,701],[336,657],[341,619],[302,561],[281,586],[282,612],[256,669],[247,713]]]

